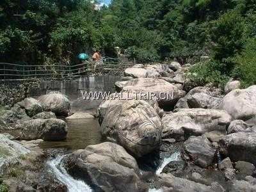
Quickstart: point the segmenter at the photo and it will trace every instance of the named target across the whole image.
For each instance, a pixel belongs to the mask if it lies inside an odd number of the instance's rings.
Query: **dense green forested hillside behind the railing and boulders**
[[[192,68],[198,83],[232,76],[255,84],[255,6],[254,0],[113,0],[97,9],[86,0],[2,0],[0,60],[70,65],[79,52],[113,56],[116,46],[138,62],[204,51],[212,60]]]

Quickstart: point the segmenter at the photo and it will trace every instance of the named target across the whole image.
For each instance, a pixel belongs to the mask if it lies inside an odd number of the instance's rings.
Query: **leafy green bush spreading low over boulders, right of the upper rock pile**
[[[221,74],[223,63],[218,61],[207,61],[193,65],[189,70],[188,77],[196,86],[204,86],[212,83],[213,86],[223,88],[228,81],[228,76]]]

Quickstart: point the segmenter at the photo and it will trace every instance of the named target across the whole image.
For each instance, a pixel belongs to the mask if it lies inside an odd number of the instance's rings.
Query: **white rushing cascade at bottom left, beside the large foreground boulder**
[[[65,156],[58,156],[56,159],[51,159],[47,162],[51,172],[56,175],[60,182],[67,186],[69,192],[92,192],[93,190],[83,180],[76,180],[67,173],[67,170],[61,164],[63,157]]]

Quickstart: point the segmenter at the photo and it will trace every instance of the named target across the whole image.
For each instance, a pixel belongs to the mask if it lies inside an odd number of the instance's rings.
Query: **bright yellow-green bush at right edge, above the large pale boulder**
[[[232,72],[234,78],[241,80],[241,85],[245,88],[256,84],[256,38],[248,40],[245,49],[241,54],[233,59],[236,67]]]

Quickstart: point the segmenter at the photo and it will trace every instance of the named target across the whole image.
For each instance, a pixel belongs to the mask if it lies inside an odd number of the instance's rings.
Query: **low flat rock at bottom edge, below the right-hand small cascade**
[[[222,192],[225,191],[220,184],[213,182],[211,186],[193,182],[188,179],[175,177],[172,174],[161,173],[158,178],[159,183],[164,190],[161,191],[175,191],[175,192]]]

